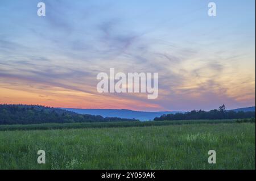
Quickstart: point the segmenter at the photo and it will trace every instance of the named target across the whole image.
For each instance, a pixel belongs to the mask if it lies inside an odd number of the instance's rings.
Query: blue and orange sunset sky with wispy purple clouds
[[[46,16],[38,16],[38,2]],[[255,1],[0,1],[0,104],[141,111],[255,106]],[[157,99],[97,74],[159,73]]]

